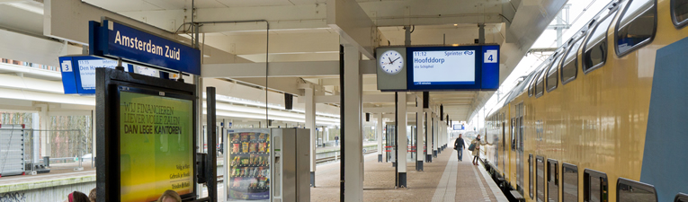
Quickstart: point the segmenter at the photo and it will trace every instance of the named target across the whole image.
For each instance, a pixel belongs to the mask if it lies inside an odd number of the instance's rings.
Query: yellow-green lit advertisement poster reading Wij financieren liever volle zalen
[[[193,102],[120,92],[121,201],[193,191]]]

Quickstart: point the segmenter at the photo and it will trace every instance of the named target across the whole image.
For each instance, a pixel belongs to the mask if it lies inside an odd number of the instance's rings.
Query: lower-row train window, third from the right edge
[[[609,185],[607,174],[600,171],[585,169],[584,193],[586,202],[606,202],[609,199]]]

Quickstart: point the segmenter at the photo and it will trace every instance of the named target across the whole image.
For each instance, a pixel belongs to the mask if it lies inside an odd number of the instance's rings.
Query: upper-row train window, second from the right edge
[[[616,55],[622,57],[652,42],[657,31],[655,0],[630,0],[616,22]]]

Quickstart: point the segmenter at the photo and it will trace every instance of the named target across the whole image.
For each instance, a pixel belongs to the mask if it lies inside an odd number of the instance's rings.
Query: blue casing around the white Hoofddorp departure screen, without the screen
[[[472,50],[476,55],[474,83],[456,84],[415,84],[414,83],[414,52],[416,51],[467,51]],[[486,63],[484,58],[487,50],[496,50],[494,62]],[[496,90],[499,88],[499,46],[458,46],[458,47],[408,47],[407,48],[407,90],[408,91],[460,91],[460,90]]]

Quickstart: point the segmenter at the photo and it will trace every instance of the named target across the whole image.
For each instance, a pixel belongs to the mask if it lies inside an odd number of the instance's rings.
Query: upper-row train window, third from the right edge
[[[593,31],[590,31],[583,52],[583,72],[588,73],[603,66],[604,61],[607,60],[607,30],[612,24],[615,13],[609,13],[600,23],[597,23]]]

